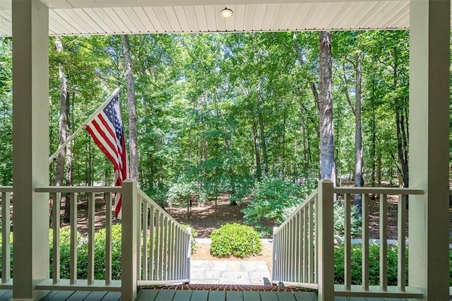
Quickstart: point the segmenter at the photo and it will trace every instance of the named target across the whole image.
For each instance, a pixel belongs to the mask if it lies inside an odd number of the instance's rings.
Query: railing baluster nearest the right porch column
[[[406,199],[398,196],[398,252],[397,252],[397,284],[398,289],[405,292],[405,232],[406,232]]]

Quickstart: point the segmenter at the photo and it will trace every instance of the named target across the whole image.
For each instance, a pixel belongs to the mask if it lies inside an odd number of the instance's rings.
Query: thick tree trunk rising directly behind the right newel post
[[[331,33],[319,33],[320,44],[320,175],[322,179],[331,179],[336,184],[334,158],[334,126],[333,126],[333,77],[331,70]]]

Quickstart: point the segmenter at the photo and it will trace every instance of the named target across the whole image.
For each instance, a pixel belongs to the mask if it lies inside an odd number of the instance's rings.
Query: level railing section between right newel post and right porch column
[[[369,297],[403,297],[420,298],[422,293],[406,286],[408,271],[405,268],[407,249],[407,205],[408,196],[424,194],[422,189],[408,188],[377,188],[377,187],[335,187],[334,193],[343,196],[345,212],[344,229],[344,283],[335,284],[335,295],[338,296],[369,296]],[[352,196],[361,194],[361,279],[359,285],[352,285],[352,235],[351,235],[351,203]],[[371,285],[369,281],[369,247],[372,242],[369,236],[369,205],[371,196],[379,200],[379,285]],[[388,285],[388,197],[397,199],[397,285]]]

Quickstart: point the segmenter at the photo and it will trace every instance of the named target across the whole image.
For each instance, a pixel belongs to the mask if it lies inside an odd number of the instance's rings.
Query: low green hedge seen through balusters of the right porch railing
[[[369,246],[369,284],[379,285],[379,245],[371,244]],[[388,247],[387,276],[388,285],[397,285],[397,246]],[[452,254],[452,253],[451,253]],[[351,250],[351,272],[352,284],[362,284],[362,246],[361,244],[352,244]],[[408,271],[408,247],[405,257],[405,271]],[[452,271],[451,271],[452,275]],[[406,277],[408,281],[408,275]],[[334,280],[337,284],[344,283],[344,246],[340,244],[334,249]],[[406,283],[408,284],[408,282]]]

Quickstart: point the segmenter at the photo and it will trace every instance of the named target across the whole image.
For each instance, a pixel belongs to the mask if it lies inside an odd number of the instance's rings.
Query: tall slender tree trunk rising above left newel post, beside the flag
[[[127,80],[127,99],[129,105],[129,156],[130,177],[138,182],[138,146],[136,134],[135,83],[133,81],[132,64],[130,59],[129,36],[121,35],[122,55]]]

